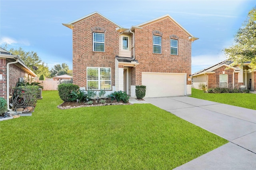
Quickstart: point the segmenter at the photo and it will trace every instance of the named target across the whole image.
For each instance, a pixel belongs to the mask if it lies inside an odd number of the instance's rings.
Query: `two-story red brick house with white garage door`
[[[123,28],[98,12],[63,23],[73,33],[73,83],[135,97],[191,94],[191,43],[198,39],[165,15]]]

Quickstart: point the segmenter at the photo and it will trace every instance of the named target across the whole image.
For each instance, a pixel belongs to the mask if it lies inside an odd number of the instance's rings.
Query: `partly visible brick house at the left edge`
[[[8,72],[9,74],[7,74]],[[11,95],[11,89],[16,87],[19,80],[25,78],[31,82],[34,77],[36,74],[18,56],[12,55],[0,47],[0,97],[7,99]]]

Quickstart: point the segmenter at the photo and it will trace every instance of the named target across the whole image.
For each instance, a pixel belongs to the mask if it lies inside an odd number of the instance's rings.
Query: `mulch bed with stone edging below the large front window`
[[[110,98],[105,99],[106,103],[100,103],[100,100],[92,100],[92,104],[87,104],[86,102],[64,102],[58,106],[59,109],[72,109],[79,107],[94,107],[94,106],[108,106],[108,105],[130,105],[130,103],[124,103],[123,101],[117,102],[116,100],[111,101]]]

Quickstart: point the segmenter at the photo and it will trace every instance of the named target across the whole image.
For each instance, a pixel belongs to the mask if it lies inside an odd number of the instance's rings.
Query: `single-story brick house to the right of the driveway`
[[[232,67],[230,66],[231,63],[226,60],[195,72],[192,75],[192,87],[199,88],[198,85],[200,83],[206,84],[207,88],[239,88],[244,85],[246,89],[256,91],[256,70],[246,72],[249,69],[250,62],[244,63],[245,66],[243,68],[239,66]]]

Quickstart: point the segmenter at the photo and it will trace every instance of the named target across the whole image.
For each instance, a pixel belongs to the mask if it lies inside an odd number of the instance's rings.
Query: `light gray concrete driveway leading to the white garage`
[[[256,169],[256,110],[186,96],[144,100],[230,141],[175,170]]]

